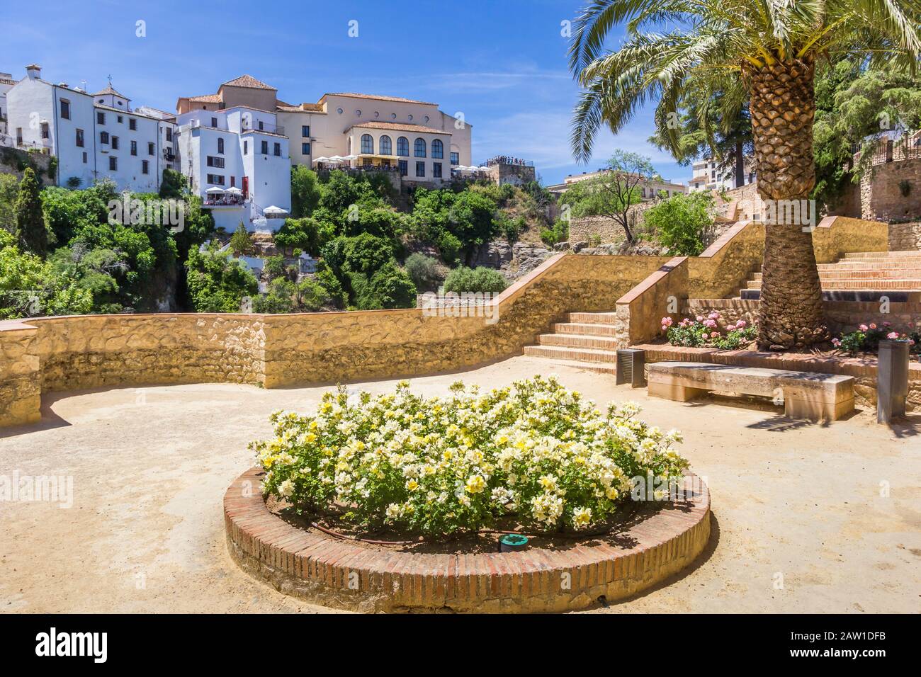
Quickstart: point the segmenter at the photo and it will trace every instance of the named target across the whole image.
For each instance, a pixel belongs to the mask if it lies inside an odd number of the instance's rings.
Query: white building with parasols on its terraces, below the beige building
[[[288,139],[274,112],[246,106],[180,114],[179,167],[217,228],[277,230],[291,211]]]

